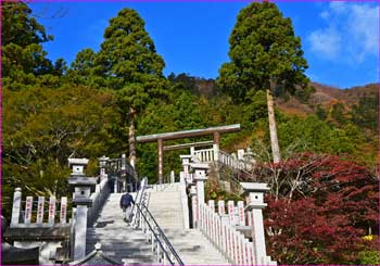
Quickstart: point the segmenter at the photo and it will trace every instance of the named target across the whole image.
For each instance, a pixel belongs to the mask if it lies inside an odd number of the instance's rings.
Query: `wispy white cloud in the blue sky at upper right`
[[[320,17],[327,25],[307,37],[311,50],[318,56],[350,64],[378,56],[378,5],[331,2]]]

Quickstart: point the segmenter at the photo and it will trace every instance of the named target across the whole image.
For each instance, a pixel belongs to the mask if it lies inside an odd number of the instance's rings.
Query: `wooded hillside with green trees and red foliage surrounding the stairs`
[[[263,12],[264,18],[270,13],[283,22],[273,3],[252,3],[242,12],[251,12],[250,20]],[[280,264],[379,263],[378,85],[340,90],[309,81],[294,36],[290,42],[297,56],[289,64],[299,64],[296,73],[288,72],[284,63],[286,72],[279,72],[266,55],[279,51],[276,43],[264,46],[267,50],[259,42],[239,50],[231,34],[231,62],[220,66],[217,80],[191,74],[165,77],[165,59],[143,18],[130,9],[110,20],[98,52],[84,48],[67,66],[63,59],[49,60],[42,43],[53,37],[26,3],[3,2],[1,20],[5,217],[16,187],[35,195],[66,195],[67,157],[90,159],[89,174],[96,174],[98,157],[129,154],[131,128],[140,136],[240,123],[240,132],[221,138],[221,149],[251,147],[257,161],[255,180],[271,187],[265,211],[269,254]],[[248,28],[240,27],[244,23],[239,21],[233,33],[250,38]],[[282,24],[293,31],[290,20]],[[273,30],[274,36],[283,35],[279,31]],[[248,69],[239,66],[245,56],[239,53],[257,49],[263,49],[261,61],[270,63],[270,77],[232,80],[231,73]],[[257,74],[250,69],[246,77]],[[278,163],[270,155],[269,92],[275,98]],[[137,147],[139,175],[151,182],[155,149],[155,143]],[[172,169],[178,173],[181,153],[165,153],[166,176]],[[218,189],[215,199],[224,195]]]

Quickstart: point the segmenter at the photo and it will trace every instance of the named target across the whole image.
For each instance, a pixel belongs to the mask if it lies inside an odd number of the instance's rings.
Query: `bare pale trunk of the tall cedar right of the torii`
[[[270,145],[271,153],[274,156],[274,163],[279,163],[281,161],[280,148],[278,145],[276,118],[275,118],[275,103],[274,97],[270,89],[266,90],[267,105],[268,105],[268,121],[269,121],[269,134],[270,134]]]

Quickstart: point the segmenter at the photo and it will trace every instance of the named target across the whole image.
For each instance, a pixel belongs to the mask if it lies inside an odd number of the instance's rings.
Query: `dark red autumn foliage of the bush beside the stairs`
[[[369,228],[378,235],[378,180],[365,167],[338,156],[297,154],[261,165],[256,180],[264,173],[282,186],[267,197],[265,211],[268,253],[280,264],[355,264],[359,251],[375,249],[364,236]],[[296,189],[289,188],[291,180],[297,180]]]

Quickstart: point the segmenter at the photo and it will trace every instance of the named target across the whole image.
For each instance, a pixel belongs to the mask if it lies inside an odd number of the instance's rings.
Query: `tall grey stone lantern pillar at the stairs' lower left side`
[[[87,159],[68,159],[68,165],[73,170],[68,185],[74,192],[73,206],[76,207],[74,261],[86,256],[87,212],[92,204],[90,194],[97,185],[96,177],[87,177],[84,173],[87,164]]]

